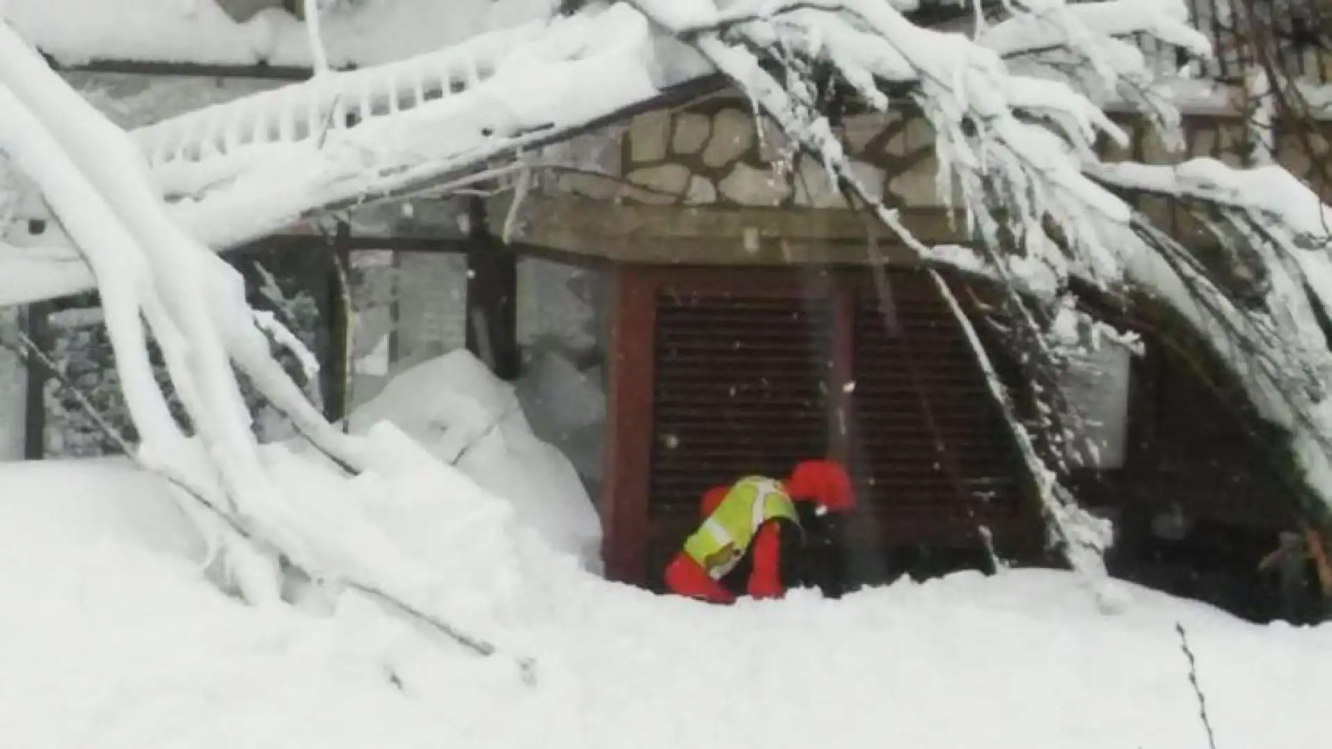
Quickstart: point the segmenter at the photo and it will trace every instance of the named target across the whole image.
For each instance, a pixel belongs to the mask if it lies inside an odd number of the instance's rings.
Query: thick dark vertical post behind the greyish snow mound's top
[[[468,251],[468,351],[501,380],[518,376],[518,256],[490,235],[485,203],[470,208]]]

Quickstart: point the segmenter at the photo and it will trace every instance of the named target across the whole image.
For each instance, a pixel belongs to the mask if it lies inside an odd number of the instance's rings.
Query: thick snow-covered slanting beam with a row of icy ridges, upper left
[[[426,187],[461,188],[496,160],[571,137],[706,73],[657,60],[659,41],[641,15],[617,4],[400,63],[329,72],[132,135],[153,181],[173,200],[173,220],[226,249],[329,209]],[[404,101],[414,105],[401,108]],[[49,296],[93,288],[87,269],[41,257],[0,252],[0,277],[40,272]],[[43,293],[15,289],[0,304]]]

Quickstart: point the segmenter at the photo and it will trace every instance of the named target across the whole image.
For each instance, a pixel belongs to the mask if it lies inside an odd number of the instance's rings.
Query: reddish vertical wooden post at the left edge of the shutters
[[[606,478],[602,556],[606,576],[646,585],[647,493],[653,452],[655,287],[634,268],[611,275],[606,377]]]

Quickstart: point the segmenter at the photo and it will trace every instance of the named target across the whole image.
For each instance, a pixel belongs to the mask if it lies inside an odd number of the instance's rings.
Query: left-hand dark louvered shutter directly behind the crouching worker
[[[698,524],[703,492],[827,454],[831,304],[661,293],[649,569]]]

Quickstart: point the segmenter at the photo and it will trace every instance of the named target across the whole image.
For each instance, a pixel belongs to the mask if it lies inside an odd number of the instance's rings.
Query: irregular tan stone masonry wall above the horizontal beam
[[[1106,140],[1107,159],[1173,163],[1211,156],[1232,165],[1247,159],[1244,121],[1233,115],[1185,117],[1187,152],[1173,152],[1142,121],[1122,117],[1130,148]],[[919,116],[851,115],[836,128],[855,173],[890,207],[940,208],[934,131]],[[1315,151],[1327,151],[1316,135]],[[599,148],[594,144],[599,143]],[[1292,135],[1279,137],[1279,153],[1297,176],[1311,160]],[[844,209],[823,167],[791,153],[785,137],[765,121],[755,127],[747,103],[718,99],[682,111],[639,115],[613,133],[582,139],[578,169],[557,191],[619,204]],[[590,157],[589,157],[590,156]]]

